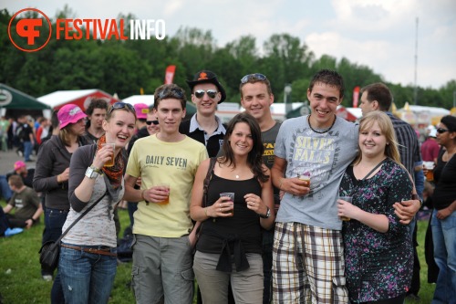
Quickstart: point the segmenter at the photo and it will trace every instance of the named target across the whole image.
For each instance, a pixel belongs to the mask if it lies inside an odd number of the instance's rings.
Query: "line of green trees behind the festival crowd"
[[[343,105],[351,107],[352,92],[357,86],[384,82],[393,92],[398,108],[406,101],[414,101],[414,87],[391,83],[371,68],[315,54],[298,37],[286,33],[274,34],[263,44],[260,54],[254,36],[243,36],[216,45],[210,30],[181,27],[173,37],[163,40],[57,40],[51,38],[43,49],[28,53],[13,46],[7,26],[12,14],[0,11],[0,82],[32,96],[43,96],[62,89],[102,89],[117,93],[120,99],[140,94],[153,94],[164,81],[165,69],[176,66],[174,83],[188,90],[185,79],[207,68],[215,72],[227,91],[227,101],[239,102],[240,79],[259,72],[271,80],[275,102],[283,102],[285,84],[291,84],[291,100],[305,101],[306,89],[312,76],[321,68],[337,70],[346,84]],[[25,17],[37,17],[27,13]],[[67,5],[57,18],[74,17]],[[119,15],[119,19],[136,19]],[[45,26],[47,25],[44,22]],[[130,22],[125,22],[125,33],[130,33]],[[56,22],[52,22],[53,33]],[[83,29],[86,30],[86,29]],[[12,28],[12,33],[16,33]],[[53,36],[54,37],[54,36]],[[46,37],[38,37],[44,42]],[[387,76],[388,78],[388,76]],[[456,79],[449,80],[440,89],[418,88],[419,105],[451,109]],[[190,97],[190,93],[188,97]]]

